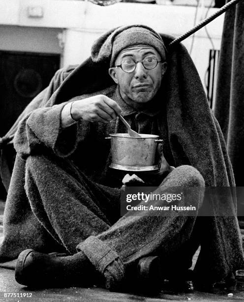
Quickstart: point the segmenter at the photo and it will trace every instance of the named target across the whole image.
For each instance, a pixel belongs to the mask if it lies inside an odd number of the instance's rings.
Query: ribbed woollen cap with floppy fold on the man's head
[[[109,63],[112,67],[122,49],[139,44],[152,46],[162,61],[165,60],[166,48],[162,38],[145,25],[122,26],[107,32],[93,43],[91,59],[93,62]]]

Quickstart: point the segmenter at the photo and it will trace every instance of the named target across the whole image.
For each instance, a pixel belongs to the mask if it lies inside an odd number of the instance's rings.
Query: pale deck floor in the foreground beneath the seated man
[[[4,203],[0,201],[0,239],[2,239],[2,219]],[[0,240],[1,241],[1,240]],[[9,293],[5,298],[4,293]],[[16,298],[11,294],[16,293]],[[30,298],[21,298],[24,294],[31,294]],[[14,295],[12,295],[14,296]],[[19,296],[19,298],[18,298]],[[154,297],[145,297],[127,293],[113,293],[101,288],[62,288],[62,289],[28,289],[15,281],[14,270],[0,268],[0,302],[8,301],[40,301],[40,302],[164,302],[164,301],[244,301],[244,284],[231,289],[214,289],[213,293],[202,293],[191,290],[187,293],[175,293],[170,288],[163,289],[160,294]]]

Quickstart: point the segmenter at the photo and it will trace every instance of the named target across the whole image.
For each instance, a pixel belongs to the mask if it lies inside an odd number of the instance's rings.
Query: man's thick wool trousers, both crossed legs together
[[[147,255],[167,257],[190,237],[195,217],[177,212],[165,217],[126,214],[111,227],[107,217],[113,216],[110,210],[116,203],[111,196],[117,196],[118,205],[120,190],[112,194],[110,188],[108,193],[72,164],[55,160],[32,156],[27,162],[26,190],[32,211],[70,253],[80,242],[77,250],[82,253],[81,257],[77,254],[78,259],[84,259],[85,254],[105,276],[109,288],[123,280],[124,267]],[[163,193],[177,186],[203,187],[204,181],[196,169],[181,166],[167,176],[159,189]],[[202,199],[199,193],[185,204],[199,208]]]

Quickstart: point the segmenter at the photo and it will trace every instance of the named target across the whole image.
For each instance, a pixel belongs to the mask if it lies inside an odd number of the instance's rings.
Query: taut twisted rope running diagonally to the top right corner
[[[188,38],[189,36],[191,36],[192,34],[194,34],[195,32],[197,32],[198,30],[200,30],[202,27],[204,27],[205,25],[209,24],[211,21],[213,21],[214,19],[216,19],[218,16],[222,15],[222,13],[224,13],[231,6],[237,4],[240,1],[242,1],[242,0],[231,0],[230,2],[226,3],[218,11],[216,11],[212,16],[204,19],[197,26],[195,26],[194,28],[192,28],[191,30],[189,30],[188,32],[186,32],[185,34],[183,34],[181,37],[179,37],[179,38],[175,39],[174,41],[172,41],[171,43],[169,43],[169,46],[171,47],[171,46],[173,46],[173,45],[175,45],[177,43],[180,43],[185,38]]]

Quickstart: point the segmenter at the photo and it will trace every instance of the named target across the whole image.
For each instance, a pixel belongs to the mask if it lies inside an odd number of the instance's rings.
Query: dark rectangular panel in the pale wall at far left
[[[59,68],[59,54],[0,51],[0,137]],[[4,197],[0,182],[0,198]]]

